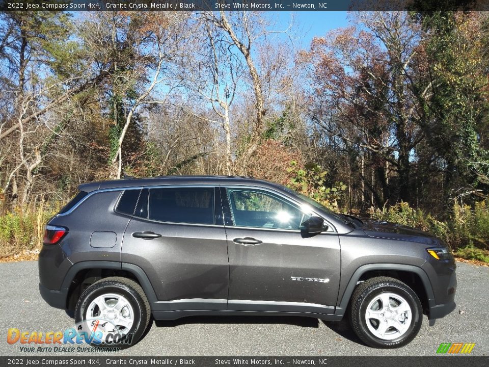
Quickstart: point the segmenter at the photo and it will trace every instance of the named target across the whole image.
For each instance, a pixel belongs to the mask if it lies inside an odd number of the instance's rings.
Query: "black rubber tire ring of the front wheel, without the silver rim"
[[[369,303],[375,297],[377,297],[379,294],[382,293],[397,294],[402,298],[404,298],[408,302],[409,306],[411,307],[412,321],[409,329],[403,335],[393,340],[384,340],[373,335],[372,332],[368,329],[367,321],[365,320],[365,312],[367,310]],[[422,321],[421,304],[416,294],[414,294],[414,292],[411,291],[410,289],[405,289],[404,287],[398,284],[396,285],[378,284],[378,286],[371,289],[370,292],[361,301],[360,309],[357,317],[359,318],[358,325],[360,327],[360,331],[368,339],[369,345],[377,348],[401,347],[411,342],[411,340],[418,334],[418,331],[421,327],[421,321]]]

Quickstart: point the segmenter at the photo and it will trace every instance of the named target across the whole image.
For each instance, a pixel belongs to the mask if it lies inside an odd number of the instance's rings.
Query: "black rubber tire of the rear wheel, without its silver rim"
[[[135,292],[133,289],[131,289],[131,287],[125,284],[117,283],[117,282],[106,282],[106,283],[101,282],[98,284],[93,284],[92,286],[88,287],[87,290],[80,296],[78,302],[76,303],[75,322],[77,324],[84,322],[85,313],[90,303],[95,298],[108,293],[115,293],[124,296],[129,301],[132,307],[132,310],[134,312],[134,321],[132,323],[131,329],[128,332],[132,334],[131,344],[101,343],[98,345],[95,344],[91,344],[91,345],[96,347],[117,346],[117,347],[128,348],[131,345],[137,343],[138,340],[143,335],[145,331],[144,326],[146,325],[146,320],[143,320],[143,318],[145,317],[147,318],[149,317],[149,315],[146,314],[146,309],[144,307],[143,300],[141,299],[140,295],[137,292]]]

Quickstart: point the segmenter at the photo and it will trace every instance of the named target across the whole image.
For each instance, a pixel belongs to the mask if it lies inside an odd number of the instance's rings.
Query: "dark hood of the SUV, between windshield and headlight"
[[[405,225],[362,218],[363,230],[369,237],[440,245],[440,240],[427,232]]]

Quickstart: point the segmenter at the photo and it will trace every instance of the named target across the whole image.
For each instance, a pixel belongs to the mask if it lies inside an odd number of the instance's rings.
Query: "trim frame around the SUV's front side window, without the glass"
[[[229,199],[229,195],[228,195],[228,192],[226,189],[230,188],[230,189],[244,189],[244,190],[257,190],[257,191],[264,191],[264,192],[267,192],[269,194],[272,194],[272,195],[275,195],[275,196],[278,196],[280,197],[281,199],[283,199],[286,203],[288,203],[289,205],[291,206],[295,206],[297,209],[301,210],[301,206],[304,205],[304,204],[307,204],[307,203],[303,203],[303,202],[300,202],[300,201],[297,201],[287,195],[284,195],[283,193],[281,193],[280,191],[277,191],[277,190],[273,190],[273,189],[269,189],[267,187],[262,187],[262,186],[250,186],[250,185],[220,185],[221,187],[221,197],[222,197],[222,200],[223,200],[223,210],[224,210],[224,215],[225,217],[228,217],[228,218],[225,218],[225,221],[224,223],[226,223],[229,219],[231,219],[231,221],[234,223],[234,221],[232,220],[231,216],[232,216],[232,210],[231,210],[231,202],[230,202],[230,199]],[[224,197],[223,197],[224,196]],[[227,200],[227,203],[226,205],[224,204],[224,200]],[[226,210],[229,211],[229,213],[226,213]],[[336,230],[336,227],[331,223],[331,221],[329,221],[327,218],[324,218],[323,215],[321,214],[318,214],[313,207],[311,207],[311,213],[313,216],[316,216],[316,217],[319,217],[319,218],[322,218],[322,220],[328,225],[328,229],[325,230],[324,232],[321,232],[321,233],[338,233],[338,231]],[[245,226],[237,226],[237,225],[226,225],[225,224],[225,227],[230,227],[230,228],[240,228],[240,229],[259,229],[259,230],[273,230],[273,231],[287,231],[287,232],[301,232],[300,229],[290,229],[290,228],[263,228],[263,227],[245,227]]]

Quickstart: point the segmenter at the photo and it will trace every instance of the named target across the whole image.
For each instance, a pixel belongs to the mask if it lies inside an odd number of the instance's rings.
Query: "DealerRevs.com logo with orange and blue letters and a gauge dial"
[[[87,320],[64,331],[25,331],[18,328],[7,331],[7,343],[18,344],[21,352],[71,353],[100,349],[116,352],[123,346],[130,346],[131,342],[131,333],[120,333],[111,322],[100,319]]]

